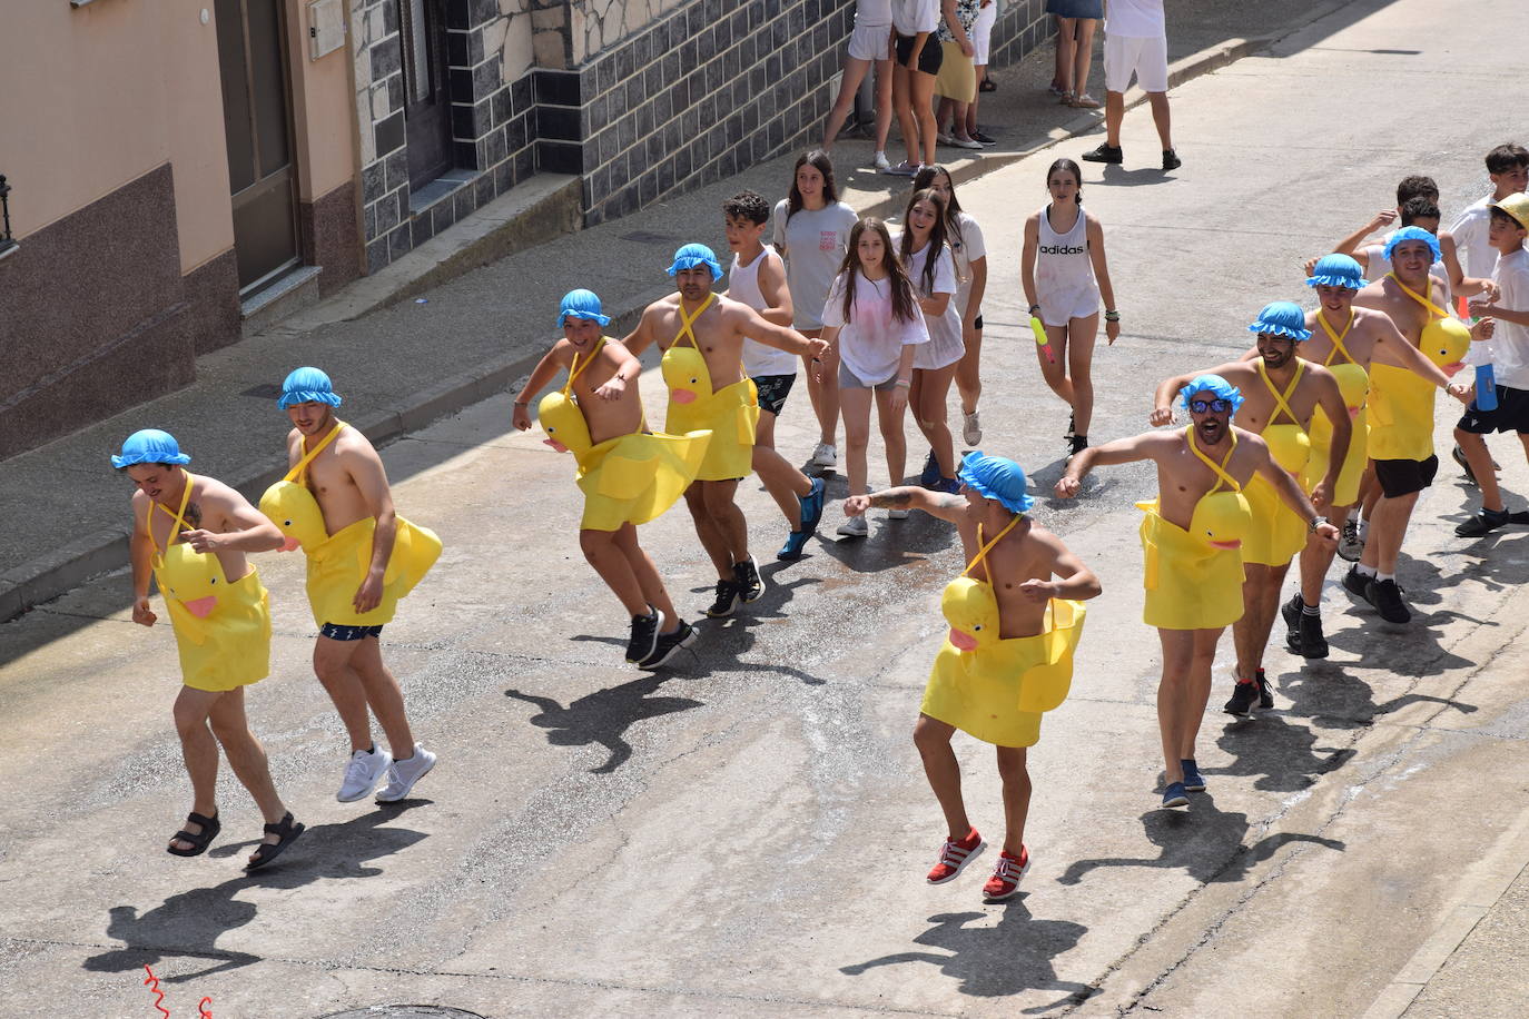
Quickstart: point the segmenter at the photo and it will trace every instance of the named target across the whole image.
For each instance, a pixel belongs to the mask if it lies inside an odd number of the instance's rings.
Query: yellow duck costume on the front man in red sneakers
[[[969,454],[968,463],[972,457],[980,454]],[[962,480],[966,480],[965,467]],[[998,498],[986,490],[983,495]],[[1014,510],[1008,500],[1000,501]],[[1000,747],[1034,746],[1041,735],[1041,713],[1066,700],[1086,616],[1081,602],[1052,599],[1040,634],[998,636],[998,600],[992,584],[968,574],[1021,516],[1023,510],[1015,510],[1009,526],[983,544],[962,574],[945,587],[940,611],[950,631],[934,657],[919,707],[930,718]],[[977,541],[982,542],[980,526]]]

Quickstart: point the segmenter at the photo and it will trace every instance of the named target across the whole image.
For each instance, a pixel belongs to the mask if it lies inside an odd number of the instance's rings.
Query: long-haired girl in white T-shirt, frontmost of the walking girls
[[[902,483],[908,443],[902,434],[914,351],[928,344],[924,316],[908,275],[898,261],[887,225],[864,218],[850,231],[849,254],[823,309],[823,339],[838,354],[836,382],[844,412],[844,458],[850,495],[870,492],[865,452],[870,446],[870,405],[887,451],[887,475]],[[827,376],[827,361],[816,365]],[[824,383],[835,379],[824,377]],[[905,510],[893,510],[907,516]],[[839,533],[864,538],[865,516],[850,516]]]

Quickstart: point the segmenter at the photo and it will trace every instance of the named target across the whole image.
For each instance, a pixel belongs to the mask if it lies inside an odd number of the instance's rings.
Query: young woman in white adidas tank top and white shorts
[[[1031,315],[1040,316],[1044,336],[1035,338],[1041,376],[1067,402],[1067,455],[1089,446],[1093,420],[1093,341],[1104,299],[1104,335],[1121,335],[1115,287],[1104,258],[1104,228],[1083,209],[1083,174],[1078,163],[1058,159],[1046,171],[1050,202],[1024,220],[1020,281]]]

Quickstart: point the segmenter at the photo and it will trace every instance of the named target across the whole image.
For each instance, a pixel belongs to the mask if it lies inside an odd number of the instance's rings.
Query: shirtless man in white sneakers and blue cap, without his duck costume
[[[404,692],[382,663],[382,625],[391,613],[376,616],[376,622],[367,619],[384,603],[384,576],[399,526],[393,492],[382,458],[365,435],[342,426],[338,435],[329,438],[339,425],[335,419],[339,396],[327,374],[318,368],[297,368],[281,383],[277,403],[292,422],[287,463],[297,466],[318,449],[304,478],[324,515],[324,530],[333,536],[358,521],[376,521],[365,574],[349,597],[349,607],[356,613],[352,619],[358,622],[324,622],[320,626],[313,672],[350,735],[350,761],[335,797],[342,804],[362,799],[385,773],[388,784],[378,793],[378,802],[396,802],[408,796],[414,782],[436,765],[436,755],[414,742],[404,710]],[[312,587],[309,597],[313,597]],[[391,752],[373,744],[368,709],[382,726]]]

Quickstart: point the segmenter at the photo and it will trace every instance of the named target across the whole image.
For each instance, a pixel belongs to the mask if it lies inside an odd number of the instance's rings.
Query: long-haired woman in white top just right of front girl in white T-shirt
[[[930,440],[930,455],[919,481],[937,492],[956,492],[960,483],[956,481],[956,443],[945,420],[945,397],[966,348],[956,313],[956,260],[945,237],[945,199],[933,188],[914,191],[902,215],[902,234],[894,243],[919,296],[930,342],[919,347],[913,359],[908,405],[919,431]]]

